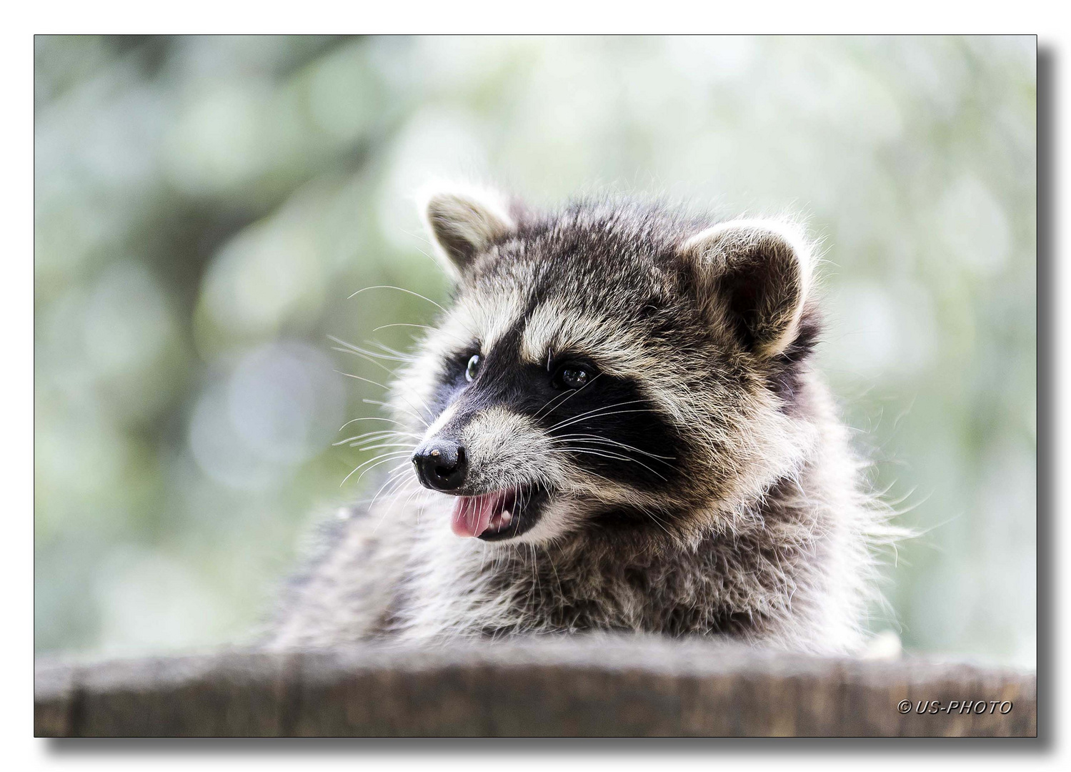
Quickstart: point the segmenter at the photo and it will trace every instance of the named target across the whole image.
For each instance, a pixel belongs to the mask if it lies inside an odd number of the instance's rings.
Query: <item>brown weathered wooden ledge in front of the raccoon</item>
[[[702,640],[233,650],[35,671],[39,737],[1037,734],[1032,672]]]

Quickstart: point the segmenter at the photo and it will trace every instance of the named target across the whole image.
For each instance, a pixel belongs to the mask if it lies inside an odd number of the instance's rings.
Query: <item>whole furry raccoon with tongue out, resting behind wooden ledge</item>
[[[464,185],[422,213],[456,290],[396,357],[394,428],[368,434],[397,465],[273,647],[624,630],[859,650],[891,531],[812,363],[800,227]]]

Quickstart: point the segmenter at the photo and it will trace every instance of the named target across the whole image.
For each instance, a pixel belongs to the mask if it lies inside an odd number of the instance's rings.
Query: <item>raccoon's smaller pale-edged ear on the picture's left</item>
[[[421,198],[421,212],[435,251],[454,278],[463,274],[478,254],[517,225],[509,199],[472,185],[429,185]]]

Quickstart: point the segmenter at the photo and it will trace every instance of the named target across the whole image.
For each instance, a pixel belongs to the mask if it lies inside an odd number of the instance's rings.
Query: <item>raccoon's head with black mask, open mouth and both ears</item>
[[[455,299],[395,404],[428,416],[412,463],[456,496],[454,533],[688,540],[798,467],[816,328],[791,226],[612,202],[538,214],[474,189],[423,214]]]

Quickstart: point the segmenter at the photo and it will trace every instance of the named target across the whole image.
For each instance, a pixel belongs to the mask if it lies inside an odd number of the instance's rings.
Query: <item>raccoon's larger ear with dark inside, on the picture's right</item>
[[[680,254],[694,266],[708,310],[745,350],[772,357],[796,339],[813,262],[800,229],[734,220],[691,237]]]

